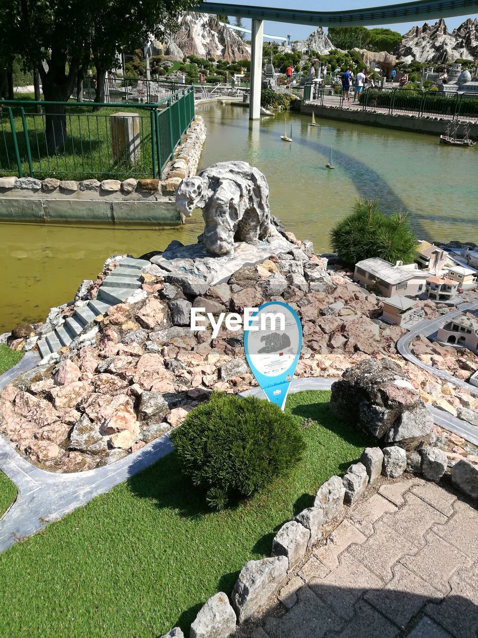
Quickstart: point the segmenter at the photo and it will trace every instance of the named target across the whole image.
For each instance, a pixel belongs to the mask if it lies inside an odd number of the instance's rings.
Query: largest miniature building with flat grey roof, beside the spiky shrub
[[[417,295],[424,291],[430,272],[419,271],[416,263],[386,262],[379,257],[364,259],[356,263],[354,280],[377,288],[382,297],[393,295]]]

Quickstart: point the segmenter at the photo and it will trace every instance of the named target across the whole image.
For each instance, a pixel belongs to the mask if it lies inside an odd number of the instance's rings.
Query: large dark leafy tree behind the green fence
[[[2,0],[0,58],[22,57],[25,68],[41,77],[45,101],[67,101],[94,57],[97,88],[117,52],[143,47],[150,34],[160,39],[177,28],[190,0]],[[8,6],[7,6],[8,4]],[[46,64],[43,64],[45,61]],[[61,105],[45,105],[47,144],[64,145],[66,114]]]

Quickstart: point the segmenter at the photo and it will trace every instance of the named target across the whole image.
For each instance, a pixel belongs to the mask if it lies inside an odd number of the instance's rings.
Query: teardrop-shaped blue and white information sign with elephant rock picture
[[[244,331],[247,362],[267,399],[284,410],[302,346],[300,319],[291,306],[279,301],[263,304],[252,316],[259,329]]]

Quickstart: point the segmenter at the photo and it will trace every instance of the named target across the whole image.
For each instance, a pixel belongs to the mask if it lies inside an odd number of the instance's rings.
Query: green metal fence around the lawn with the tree
[[[37,112],[37,107],[41,112]],[[194,89],[135,105],[0,101],[0,174],[58,179],[161,177],[194,119]],[[121,112],[123,130],[110,116]],[[131,114],[134,113],[134,117]],[[133,142],[127,139],[134,122]],[[131,137],[131,136],[130,136]]]

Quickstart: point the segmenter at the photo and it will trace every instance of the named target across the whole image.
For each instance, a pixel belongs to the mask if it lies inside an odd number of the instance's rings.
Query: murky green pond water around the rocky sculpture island
[[[440,146],[436,136],[279,114],[249,124],[247,109],[198,108],[208,135],[200,168],[242,159],[269,183],[273,214],[317,251],[328,249],[331,226],[356,197],[379,198],[385,211],[412,211],[424,239],[478,242],[475,149]],[[293,125],[293,143],[280,140]],[[333,147],[335,170],[325,168]],[[138,256],[171,239],[196,241],[200,215],[182,228],[0,224],[0,332],[45,319],[51,306],[73,298],[113,253]]]

